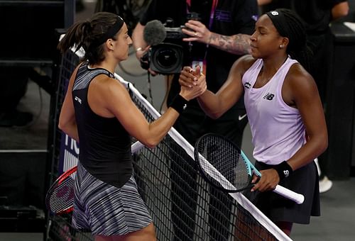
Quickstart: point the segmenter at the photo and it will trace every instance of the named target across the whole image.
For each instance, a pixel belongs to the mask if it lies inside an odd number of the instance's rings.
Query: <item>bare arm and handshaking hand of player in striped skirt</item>
[[[182,88],[180,95],[193,99],[206,89],[204,83],[198,82],[193,88]],[[163,139],[178,118],[174,108],[168,110],[158,120],[148,123],[143,113],[131,101],[129,92],[116,79],[96,77],[89,86],[89,106],[94,113],[107,118],[116,117],[134,138],[148,147]],[[188,108],[188,107],[187,107]]]

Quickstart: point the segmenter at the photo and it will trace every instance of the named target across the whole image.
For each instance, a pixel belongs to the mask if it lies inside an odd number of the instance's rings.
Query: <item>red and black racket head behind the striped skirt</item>
[[[50,213],[70,213],[74,203],[75,172],[77,167],[67,170],[54,181],[45,196],[45,206]]]

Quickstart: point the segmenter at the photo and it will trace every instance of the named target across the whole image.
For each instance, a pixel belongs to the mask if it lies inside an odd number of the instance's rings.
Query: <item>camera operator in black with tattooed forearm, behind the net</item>
[[[197,17],[192,13],[197,13]],[[136,57],[141,60],[146,52],[150,51],[151,46],[148,46],[143,38],[146,24],[155,19],[162,23],[172,19],[171,27],[185,26],[181,31],[186,37],[180,40],[183,48],[182,65],[199,65],[206,75],[209,89],[217,91],[227,79],[234,61],[249,53],[249,38],[253,33],[257,14],[256,0],[152,0],[133,30]],[[164,42],[168,42],[168,39]],[[175,41],[176,43],[178,41]],[[152,69],[149,71],[158,74]],[[178,78],[179,74],[176,73],[166,75],[166,79],[171,79],[171,82],[168,82],[170,88],[167,90],[168,106],[180,89]],[[191,145],[195,145],[197,138],[204,133],[218,133],[241,146],[243,130],[247,123],[243,101],[236,103],[217,120],[207,117],[197,101],[190,102],[192,103],[189,103],[189,107],[180,115],[174,127]],[[171,216],[175,240],[193,240],[195,230],[197,169],[195,162],[187,155],[184,159],[190,162],[189,167],[172,162],[170,169]],[[222,194],[212,188],[209,191],[210,239],[227,240],[231,200],[228,194]]]

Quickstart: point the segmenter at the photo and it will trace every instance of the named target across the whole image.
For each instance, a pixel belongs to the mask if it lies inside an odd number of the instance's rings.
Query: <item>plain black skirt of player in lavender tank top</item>
[[[270,169],[273,166],[256,161],[258,170]],[[310,223],[310,216],[320,216],[320,187],[317,166],[310,162],[293,172],[279,183],[287,189],[305,196],[302,204],[297,204],[273,191],[244,192],[244,195],[259,208],[268,218],[275,222]]]

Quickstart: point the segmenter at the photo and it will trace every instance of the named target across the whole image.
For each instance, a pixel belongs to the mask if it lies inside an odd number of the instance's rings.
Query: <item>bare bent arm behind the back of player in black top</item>
[[[65,132],[70,138],[73,138],[79,142],[79,135],[77,133],[77,122],[75,120],[74,104],[72,103],[72,86],[74,84],[74,79],[77,74],[77,69],[72,73],[70,77],[70,82],[67,88],[67,94],[65,94],[65,99],[60,110],[58,128]]]

